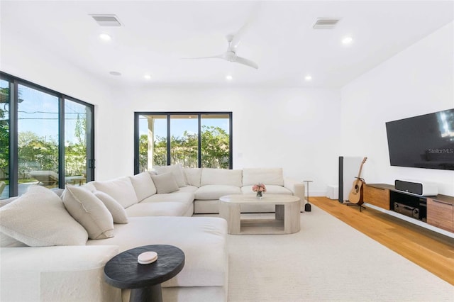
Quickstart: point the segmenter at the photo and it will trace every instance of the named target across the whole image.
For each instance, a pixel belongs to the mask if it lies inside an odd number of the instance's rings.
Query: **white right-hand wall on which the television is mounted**
[[[367,156],[365,180],[438,183],[454,195],[454,171],[391,167],[385,122],[454,108],[453,22],[428,35],[341,90],[343,155]]]

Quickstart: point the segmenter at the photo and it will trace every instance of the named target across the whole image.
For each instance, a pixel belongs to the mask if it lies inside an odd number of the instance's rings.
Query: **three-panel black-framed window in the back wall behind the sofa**
[[[135,113],[135,168],[232,167],[232,113]]]

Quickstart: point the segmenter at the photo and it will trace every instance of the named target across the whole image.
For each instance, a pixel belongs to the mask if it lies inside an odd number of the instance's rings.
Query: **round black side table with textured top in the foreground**
[[[139,264],[143,252],[157,252],[157,260]],[[184,267],[184,252],[173,245],[145,245],[121,252],[104,267],[104,279],[119,289],[131,289],[129,301],[162,302],[161,283]]]

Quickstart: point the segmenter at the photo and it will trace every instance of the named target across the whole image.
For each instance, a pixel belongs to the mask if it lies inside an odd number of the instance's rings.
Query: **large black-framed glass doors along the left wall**
[[[94,179],[94,106],[0,73],[0,198]]]

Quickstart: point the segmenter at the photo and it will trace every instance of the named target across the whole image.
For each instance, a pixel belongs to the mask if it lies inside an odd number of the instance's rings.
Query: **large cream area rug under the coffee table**
[[[228,235],[228,250],[230,302],[454,301],[454,286],[314,205],[299,233]]]

